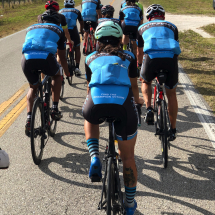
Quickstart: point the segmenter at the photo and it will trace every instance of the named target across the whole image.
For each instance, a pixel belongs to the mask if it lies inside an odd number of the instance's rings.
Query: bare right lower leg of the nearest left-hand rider
[[[61,90],[61,75],[60,71],[57,73],[57,75],[52,77],[52,101],[53,102],[59,102],[60,99],[60,90]]]

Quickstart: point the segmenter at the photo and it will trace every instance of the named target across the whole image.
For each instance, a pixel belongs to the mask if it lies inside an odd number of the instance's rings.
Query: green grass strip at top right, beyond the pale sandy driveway
[[[165,11],[173,14],[215,15],[212,0],[140,0],[144,7],[161,4]]]

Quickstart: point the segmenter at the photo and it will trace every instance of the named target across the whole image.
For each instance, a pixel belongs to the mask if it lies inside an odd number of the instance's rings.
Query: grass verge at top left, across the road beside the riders
[[[0,10],[0,38],[25,29],[37,23],[37,16],[45,11],[46,1],[26,3],[24,5],[14,5],[13,8]],[[60,8],[63,8],[63,0],[58,1]],[[79,5],[81,0],[76,0]]]

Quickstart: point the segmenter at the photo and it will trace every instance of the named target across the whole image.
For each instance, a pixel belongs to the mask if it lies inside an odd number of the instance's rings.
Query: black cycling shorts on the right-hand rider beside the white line
[[[174,55],[173,58],[153,58],[148,54],[144,54],[143,63],[141,67],[140,76],[146,82],[151,82],[156,77],[156,71],[167,70],[167,79],[165,86],[168,89],[173,89],[178,84],[178,57]]]

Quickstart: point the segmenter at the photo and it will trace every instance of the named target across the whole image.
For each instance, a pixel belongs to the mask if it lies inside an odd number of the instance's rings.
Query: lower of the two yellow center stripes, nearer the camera
[[[0,137],[7,131],[27,106],[26,96],[0,121]]]

